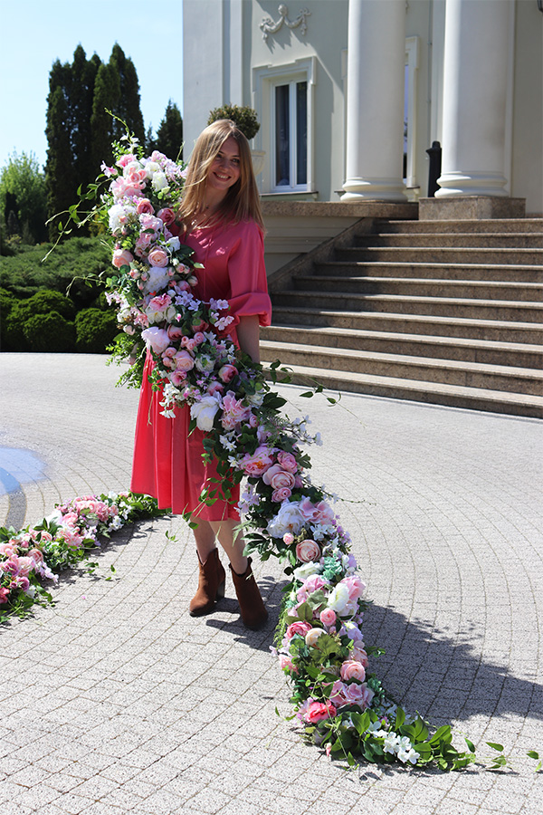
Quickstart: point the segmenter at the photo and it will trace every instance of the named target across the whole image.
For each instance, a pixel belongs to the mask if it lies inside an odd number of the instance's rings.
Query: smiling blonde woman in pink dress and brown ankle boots
[[[178,213],[183,243],[195,250],[204,264],[198,273],[195,296],[209,302],[228,300],[233,341],[252,360],[260,361],[259,325],[269,325],[271,302],[267,292],[263,258],[263,225],[251,150],[241,130],[230,120],[209,125],[198,137],[186,175],[185,194]],[[160,393],[148,383],[150,357],[139,399],[131,489],[153,495],[160,507],[174,513],[192,513],[199,565],[198,590],[190,614],[199,616],[214,609],[224,597],[225,572],[216,541],[230,561],[233,585],[243,623],[260,628],[268,617],[252,575],[251,559],[243,556],[243,536],[235,532],[239,513],[235,503],[201,503],[199,496],[213,465],[202,460],[203,434],[188,435],[188,408],[176,410],[175,418],[160,414]]]

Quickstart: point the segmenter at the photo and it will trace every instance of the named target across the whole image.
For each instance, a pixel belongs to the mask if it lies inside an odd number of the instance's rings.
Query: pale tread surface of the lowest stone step
[[[539,408],[543,413],[543,397],[530,394],[511,393],[506,390],[489,390],[487,388],[470,388],[464,385],[445,385],[440,382],[425,382],[424,379],[399,379],[381,377],[374,374],[360,374],[353,371],[335,371],[332,369],[308,368],[303,365],[285,366],[293,374],[307,378],[311,382],[336,379],[349,381],[360,386],[380,385],[391,390],[412,391],[414,394],[436,393],[448,397],[471,398],[477,402],[494,402],[497,404],[517,405],[519,407]]]

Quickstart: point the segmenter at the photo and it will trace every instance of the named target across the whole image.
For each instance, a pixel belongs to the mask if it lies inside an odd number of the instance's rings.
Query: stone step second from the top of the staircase
[[[472,247],[475,249],[487,247],[489,249],[540,249],[543,247],[543,235],[537,232],[510,232],[510,233],[378,233],[376,235],[357,235],[355,245],[364,247]]]

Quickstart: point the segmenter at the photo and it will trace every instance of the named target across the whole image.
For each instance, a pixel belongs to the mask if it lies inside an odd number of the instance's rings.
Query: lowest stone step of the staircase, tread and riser
[[[367,374],[307,368],[301,365],[291,365],[290,368],[291,381],[303,386],[314,385],[318,382],[330,390],[408,399],[449,408],[485,410],[510,416],[543,417],[543,398],[527,394],[443,385],[438,382],[426,383],[394,377],[376,377]]]

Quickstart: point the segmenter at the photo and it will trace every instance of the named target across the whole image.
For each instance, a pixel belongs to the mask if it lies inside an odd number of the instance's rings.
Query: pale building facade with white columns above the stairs
[[[512,199],[526,199],[526,213],[539,215],[541,6],[184,0],[186,155],[211,109],[250,105],[261,121],[253,147],[266,153],[264,201],[417,201],[438,141],[433,207],[500,198],[495,212],[507,216],[524,206]]]

